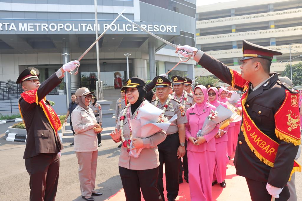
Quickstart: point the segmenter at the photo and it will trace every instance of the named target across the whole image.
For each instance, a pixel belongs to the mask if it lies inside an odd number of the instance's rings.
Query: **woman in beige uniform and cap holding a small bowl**
[[[76,90],[78,106],[72,111],[74,151],[79,164],[79,180],[82,198],[94,200],[92,195],[99,196],[95,188],[96,165],[98,161],[98,138],[94,128],[100,127],[91,108],[88,107],[92,94],[87,88]]]

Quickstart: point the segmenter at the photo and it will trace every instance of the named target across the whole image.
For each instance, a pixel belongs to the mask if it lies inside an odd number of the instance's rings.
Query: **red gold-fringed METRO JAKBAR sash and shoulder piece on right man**
[[[263,133],[255,125],[254,121],[250,118],[245,108],[245,103],[249,90],[248,83],[244,86],[244,90],[246,90],[246,93],[243,94],[241,99],[243,116],[241,130],[243,131],[245,141],[248,144],[249,148],[252,150],[252,152],[254,152],[254,154],[261,162],[265,163],[270,167],[274,167],[275,157],[278,151],[279,144],[272,140],[270,137],[268,137],[265,133]],[[285,90],[285,93],[286,97],[284,99],[284,102],[275,114],[276,136],[280,140],[286,141],[288,143],[293,143],[294,145],[299,145],[300,118],[299,114],[295,114],[293,111],[294,109],[296,111],[295,99],[297,98],[297,94],[290,93],[288,90]],[[288,122],[278,121],[278,119],[284,119],[286,116],[288,116]],[[297,121],[299,122],[299,125]],[[291,175],[296,171],[301,171],[301,165],[294,161],[294,167],[291,171]],[[291,176],[289,178],[289,181],[290,180]]]

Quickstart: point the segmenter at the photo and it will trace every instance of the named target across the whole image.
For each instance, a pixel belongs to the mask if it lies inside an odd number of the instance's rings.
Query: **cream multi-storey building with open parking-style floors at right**
[[[297,0],[247,0],[197,7],[196,44],[224,64],[239,71],[242,40],[278,50],[271,71],[302,60],[302,3]],[[297,57],[297,58],[295,58]],[[294,59],[293,59],[294,58]],[[203,73],[195,68],[195,76]],[[202,76],[212,75],[205,72]]]

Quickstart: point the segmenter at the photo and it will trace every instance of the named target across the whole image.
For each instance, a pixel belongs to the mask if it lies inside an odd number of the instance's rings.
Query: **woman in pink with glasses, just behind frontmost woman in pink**
[[[209,95],[209,103],[218,107],[222,105],[227,108],[226,104],[218,101],[218,90],[216,87],[212,86],[208,89]],[[223,130],[219,130],[218,133],[214,136],[216,143],[216,153],[215,153],[215,168],[213,175],[213,183],[219,183],[221,187],[226,187],[226,182],[224,181],[226,178],[226,164],[229,163],[229,158],[227,157],[227,130],[228,127]]]

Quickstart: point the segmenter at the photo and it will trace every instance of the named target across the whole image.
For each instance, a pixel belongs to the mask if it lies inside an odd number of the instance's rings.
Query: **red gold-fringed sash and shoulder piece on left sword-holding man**
[[[56,112],[53,110],[53,108],[45,102],[45,100],[46,100],[45,97],[42,100],[40,100],[40,102],[38,102],[37,90],[38,89],[25,91],[25,92],[21,93],[21,96],[24,99],[24,101],[26,101],[30,104],[37,103],[37,105],[40,105],[40,107],[43,109],[51,127],[53,128],[55,133],[58,134],[58,130],[60,130],[62,127],[61,121],[60,121],[58,115],[56,114]],[[23,115],[21,113],[20,104],[19,104],[19,111],[20,111],[21,117],[23,118]]]

